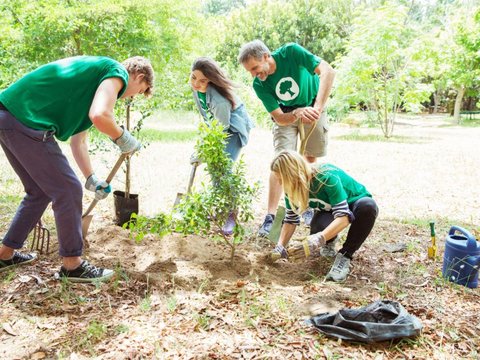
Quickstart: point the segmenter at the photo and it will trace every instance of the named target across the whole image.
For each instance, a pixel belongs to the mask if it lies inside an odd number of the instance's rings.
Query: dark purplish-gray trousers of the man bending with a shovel
[[[26,193],[3,244],[13,249],[22,248],[52,202],[60,256],[80,256],[83,248],[82,184],[53,133],[24,126],[0,104],[0,145]]]

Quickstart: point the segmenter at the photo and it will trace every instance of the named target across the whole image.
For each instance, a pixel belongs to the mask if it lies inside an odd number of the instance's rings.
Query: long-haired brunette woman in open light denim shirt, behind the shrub
[[[253,122],[245,105],[233,92],[233,82],[227,78],[218,64],[207,57],[197,58],[192,65],[190,85],[198,111],[207,123],[218,120],[228,134],[225,151],[236,161],[242,147],[247,145]],[[192,165],[200,160],[194,154]],[[232,211],[222,231],[231,235],[235,226],[235,212]]]

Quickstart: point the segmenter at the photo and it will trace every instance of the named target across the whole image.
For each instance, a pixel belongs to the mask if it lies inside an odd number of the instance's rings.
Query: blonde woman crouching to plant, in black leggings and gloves
[[[378,207],[365,186],[331,164],[312,165],[295,151],[282,151],[272,161],[271,170],[281,181],[286,216],[278,244],[271,254],[279,258],[305,258],[320,248],[322,256],[335,256],[327,279],[344,281],[350,260],[373,228]],[[300,216],[306,208],[315,214],[310,236],[286,249]],[[350,225],[342,248],[336,252],[338,234]]]

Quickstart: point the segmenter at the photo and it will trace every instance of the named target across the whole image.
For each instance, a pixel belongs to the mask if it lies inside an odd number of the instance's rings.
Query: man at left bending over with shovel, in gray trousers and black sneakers
[[[101,200],[110,185],[98,179],[88,154],[93,125],[124,154],[140,143],[114,119],[118,99],[150,95],[153,68],[142,57],[119,63],[101,56],[77,56],[43,65],[0,93],[0,145],[26,195],[0,247],[0,272],[30,263],[36,254],[16,251],[51,202],[63,266],[70,281],[106,280],[113,271],[82,260],[82,185],[62,154],[58,140],[70,140],[73,157],[86,178],[85,188]]]

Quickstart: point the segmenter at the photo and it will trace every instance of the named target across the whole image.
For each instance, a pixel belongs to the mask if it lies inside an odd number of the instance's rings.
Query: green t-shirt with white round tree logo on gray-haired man
[[[322,61],[296,43],[286,44],[272,53],[276,70],[265,81],[253,80],[253,88],[270,113],[279,107],[310,106],[318,93],[320,79],[315,68]]]

